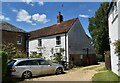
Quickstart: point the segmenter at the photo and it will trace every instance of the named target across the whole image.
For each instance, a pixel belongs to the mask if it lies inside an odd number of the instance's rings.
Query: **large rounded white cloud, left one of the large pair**
[[[29,13],[24,10],[24,9],[21,9],[18,13],[17,13],[17,21],[24,21],[24,22],[27,22],[27,23],[31,23],[32,24],[32,21],[30,20],[31,19],[31,16],[29,15]]]

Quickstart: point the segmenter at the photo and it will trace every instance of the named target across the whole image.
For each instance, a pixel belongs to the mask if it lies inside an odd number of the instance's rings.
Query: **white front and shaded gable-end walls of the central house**
[[[56,36],[61,36],[61,45],[59,46],[56,46]],[[50,57],[52,55],[52,48],[54,49],[54,53],[59,51],[59,48],[64,48],[65,51],[63,53],[63,60],[67,62],[69,62],[70,54],[86,54],[86,51],[83,50],[86,48],[89,48],[89,54],[95,54],[95,50],[90,44],[90,41],[86,36],[79,19],[75,21],[67,33],[41,37],[38,39],[42,39],[42,47],[44,48],[44,50],[42,50],[42,56],[50,60],[52,59]],[[40,53],[40,51],[37,49],[38,39],[29,41],[29,54],[31,54],[31,52]]]

